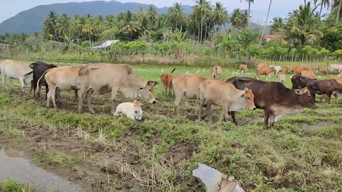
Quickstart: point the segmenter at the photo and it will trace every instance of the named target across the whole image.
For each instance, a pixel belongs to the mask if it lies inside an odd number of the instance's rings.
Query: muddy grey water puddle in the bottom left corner
[[[13,178],[19,183],[27,183],[39,191],[81,191],[78,184],[48,172],[24,159],[24,153],[15,150],[0,150],[0,182]]]

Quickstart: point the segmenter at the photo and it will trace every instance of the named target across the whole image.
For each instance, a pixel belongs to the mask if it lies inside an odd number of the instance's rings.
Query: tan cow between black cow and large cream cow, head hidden
[[[41,78],[37,82],[37,90],[41,85],[41,80],[45,78],[48,85],[48,95],[46,95],[46,107],[50,106],[50,99],[53,102],[53,107],[57,109],[56,105],[56,90],[59,91],[71,91],[75,92],[76,98],[78,97],[78,71],[81,70],[81,66],[63,66],[59,68],[50,68],[46,70]]]

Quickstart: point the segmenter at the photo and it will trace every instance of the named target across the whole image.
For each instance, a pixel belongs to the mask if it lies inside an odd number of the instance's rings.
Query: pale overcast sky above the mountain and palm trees
[[[15,16],[21,11],[31,9],[38,5],[43,4],[55,4],[55,3],[66,3],[66,2],[80,2],[80,1],[93,1],[93,0],[1,0],[0,6],[0,23],[7,18]],[[194,0],[117,0],[120,2],[139,2],[143,4],[155,4],[155,6],[172,6],[175,2],[182,4],[193,5]],[[219,0],[209,0],[214,4]],[[221,0],[227,10],[232,12],[235,8],[248,9],[248,4],[245,0],[240,3],[239,0]],[[273,0],[271,6],[271,12],[269,20],[276,16],[285,17],[289,12],[297,9],[300,4],[303,4],[304,0]],[[251,6],[252,21],[261,21],[266,18],[267,9],[269,6],[269,0],[254,0],[254,4]],[[254,16],[254,18],[253,18]]]

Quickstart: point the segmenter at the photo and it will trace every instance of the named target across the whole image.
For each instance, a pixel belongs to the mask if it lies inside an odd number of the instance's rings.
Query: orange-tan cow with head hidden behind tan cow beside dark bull
[[[176,115],[180,114],[180,102],[182,101],[183,95],[190,100],[196,100],[199,85],[207,79],[192,73],[180,74],[173,78],[172,87],[175,90],[174,104]]]

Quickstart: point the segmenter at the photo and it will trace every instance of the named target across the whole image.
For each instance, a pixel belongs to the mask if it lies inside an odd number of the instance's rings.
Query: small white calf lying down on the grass
[[[126,117],[130,119],[137,119],[141,120],[142,117],[142,110],[141,110],[142,103],[134,100],[134,102],[123,102],[116,107],[114,115],[125,114]]]

